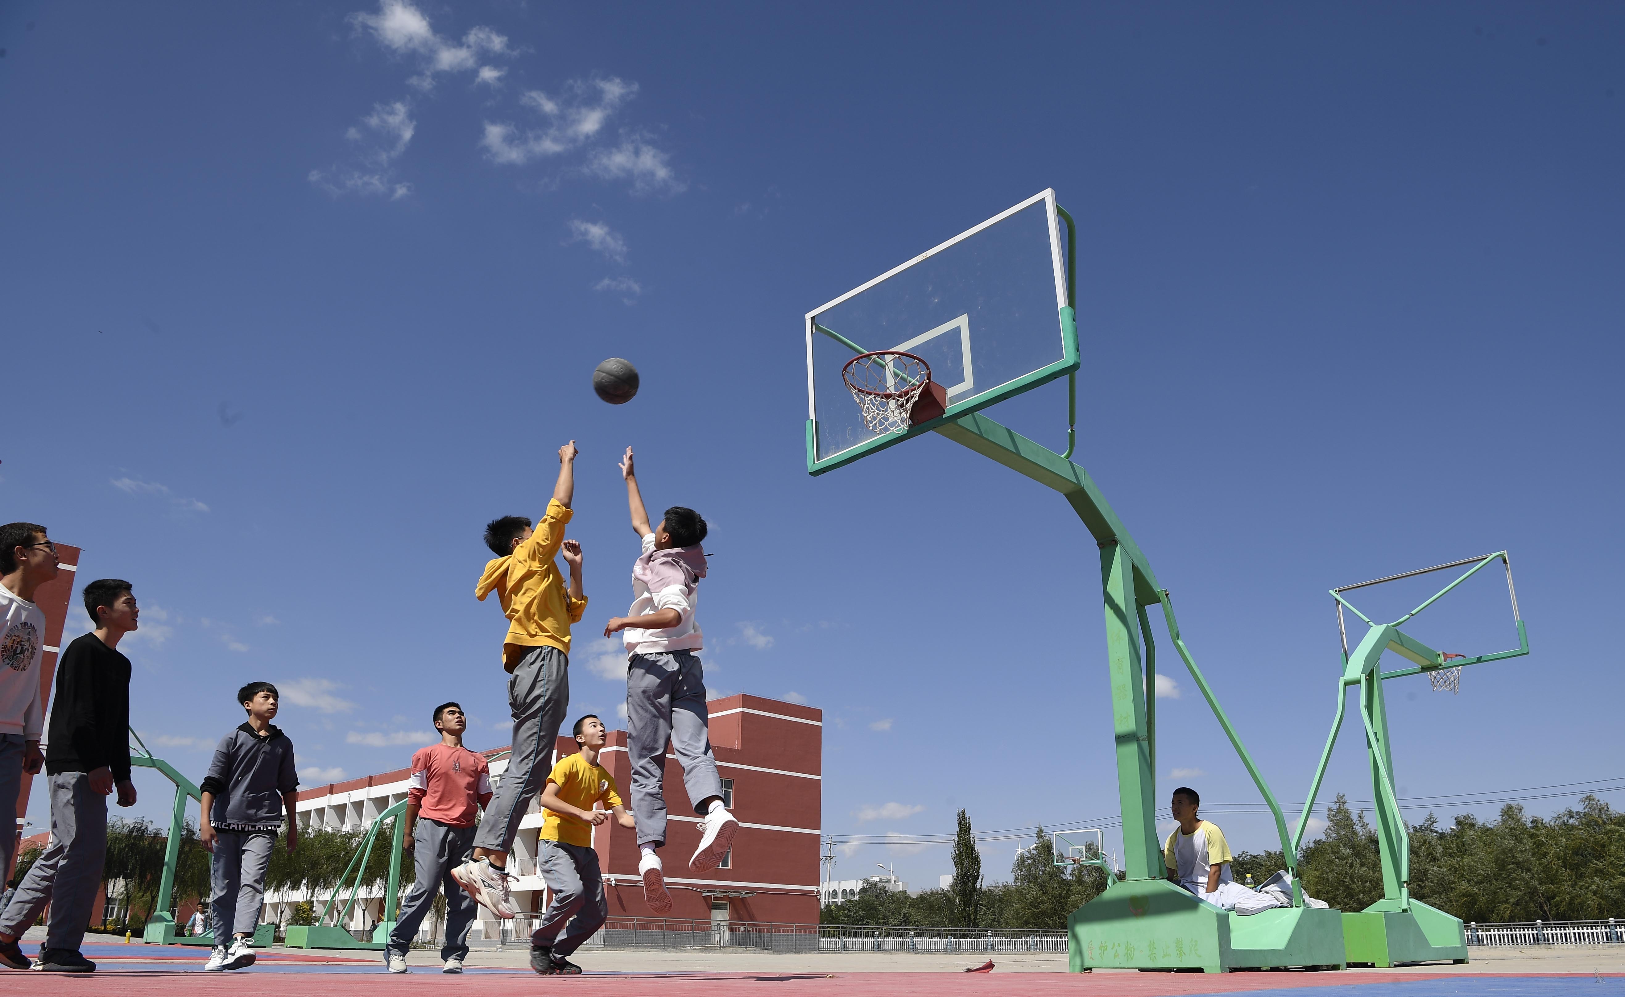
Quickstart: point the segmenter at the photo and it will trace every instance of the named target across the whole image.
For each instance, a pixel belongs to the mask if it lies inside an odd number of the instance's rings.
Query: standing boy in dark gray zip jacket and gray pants
[[[200,786],[203,827],[198,838],[213,852],[208,906],[214,950],[203,966],[205,973],[254,965],[254,929],[265,906],[265,869],[284,814],[288,851],[292,852],[299,843],[294,744],[271,724],[276,700],[276,687],[270,682],[249,682],[237,690],[237,701],[249,719],[219,739]]]

